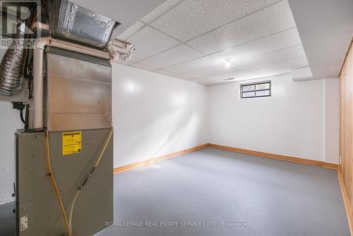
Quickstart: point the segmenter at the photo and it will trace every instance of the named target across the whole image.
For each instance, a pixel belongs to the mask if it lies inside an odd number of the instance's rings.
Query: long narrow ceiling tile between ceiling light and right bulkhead
[[[292,58],[305,56],[304,48],[302,45],[281,49],[275,52],[261,54],[256,57],[244,58],[241,60],[233,61],[232,68],[246,69],[253,66],[261,66],[263,64],[270,64],[276,61],[284,61]]]

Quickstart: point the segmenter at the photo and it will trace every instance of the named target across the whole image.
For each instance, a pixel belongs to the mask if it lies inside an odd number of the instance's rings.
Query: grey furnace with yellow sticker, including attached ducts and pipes
[[[110,61],[128,60],[133,46],[109,43],[119,23],[70,1],[40,11],[47,28],[33,19],[34,48],[18,45],[1,61],[1,95],[20,92],[13,101],[28,107],[16,132],[16,231],[93,235],[113,221]]]

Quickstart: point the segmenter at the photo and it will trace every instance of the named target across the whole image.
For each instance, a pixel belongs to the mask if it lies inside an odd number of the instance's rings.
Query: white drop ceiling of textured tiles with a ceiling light
[[[168,0],[118,38],[136,47],[124,64],[206,85],[309,66],[287,0]]]

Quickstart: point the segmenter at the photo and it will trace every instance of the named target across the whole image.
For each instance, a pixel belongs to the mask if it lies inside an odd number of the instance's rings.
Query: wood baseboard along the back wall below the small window
[[[308,160],[308,159],[303,159],[303,158],[294,158],[291,156],[287,155],[278,155],[278,154],[273,154],[273,153],[263,153],[263,152],[258,152],[258,151],[252,151],[248,149],[242,149],[242,148],[233,148],[229,146],[222,146],[218,144],[213,144],[213,143],[208,143],[208,146],[213,147],[213,148],[218,148],[226,151],[232,151],[236,153],[243,153],[243,154],[249,154],[249,155],[256,155],[261,158],[271,158],[271,159],[276,159],[276,160],[285,160],[289,161],[292,163],[301,163],[301,164],[306,164],[306,165],[316,165],[316,166],[321,166],[325,167],[328,169],[338,169],[338,165],[332,164],[332,163],[324,163],[323,161],[319,160]]]

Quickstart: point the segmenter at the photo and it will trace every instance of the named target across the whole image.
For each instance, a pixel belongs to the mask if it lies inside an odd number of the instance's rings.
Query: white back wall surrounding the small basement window
[[[325,80],[294,82],[290,75],[253,81],[269,79],[270,98],[240,99],[244,81],[208,87],[210,143],[310,160],[325,161],[327,154],[337,163],[337,81],[326,87]]]

